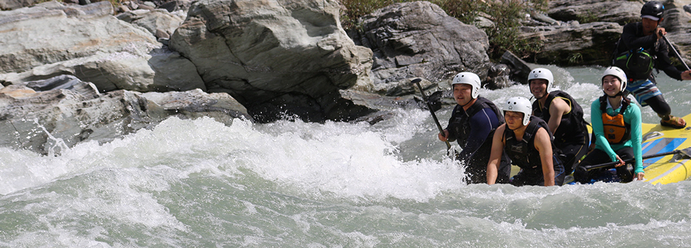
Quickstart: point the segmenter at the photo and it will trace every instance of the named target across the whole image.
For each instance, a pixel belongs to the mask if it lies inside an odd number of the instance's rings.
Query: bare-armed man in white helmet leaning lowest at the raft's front
[[[528,99],[516,96],[504,105],[504,119],[494,133],[491,156],[487,163],[487,183],[492,185],[497,177],[499,158],[509,155],[511,163],[521,168],[513,176],[511,184],[562,185],[566,176],[564,165],[554,147],[547,123],[531,116],[532,106]]]

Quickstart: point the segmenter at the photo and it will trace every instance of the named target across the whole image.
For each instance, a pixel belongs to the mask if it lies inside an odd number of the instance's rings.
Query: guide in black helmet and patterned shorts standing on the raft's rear
[[[659,1],[649,1],[641,8],[641,22],[624,25],[613,65],[629,76],[626,90],[634,94],[641,106],[650,105],[662,118],[661,125],[683,128],[686,121],[671,115],[672,108],[658,90],[652,75],[654,67],[673,79],[691,80],[691,71],[681,72],[672,65],[668,43],[661,40],[667,34],[665,28],[659,26],[664,10],[665,6]]]

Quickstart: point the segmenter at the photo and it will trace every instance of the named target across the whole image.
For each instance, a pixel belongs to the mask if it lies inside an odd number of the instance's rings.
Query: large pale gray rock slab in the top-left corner
[[[196,68],[143,28],[113,17],[108,1],[55,1],[0,12],[0,81],[21,84],[60,74],[101,92],[205,89]]]

